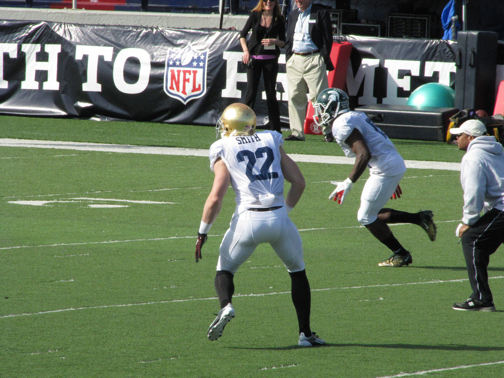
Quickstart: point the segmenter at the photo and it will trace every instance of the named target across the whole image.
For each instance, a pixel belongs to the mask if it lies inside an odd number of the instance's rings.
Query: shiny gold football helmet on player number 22
[[[236,102],[224,109],[215,125],[216,137],[222,138],[237,135],[254,135],[257,118],[254,110],[247,105]]]

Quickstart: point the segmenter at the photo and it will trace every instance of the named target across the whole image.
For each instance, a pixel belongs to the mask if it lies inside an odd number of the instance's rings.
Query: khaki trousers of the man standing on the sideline
[[[320,53],[312,55],[292,54],[286,63],[287,86],[289,96],[289,122],[292,134],[304,140],[304,119],[309,91],[310,101],[313,103],[324,89],[329,88],[326,64]],[[325,128],[326,129],[326,128]],[[324,134],[330,132],[330,126]]]

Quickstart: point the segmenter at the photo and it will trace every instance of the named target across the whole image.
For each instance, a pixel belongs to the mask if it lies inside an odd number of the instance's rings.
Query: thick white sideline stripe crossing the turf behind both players
[[[121,152],[130,154],[182,155],[182,156],[208,157],[207,149],[198,149],[198,148],[150,147],[150,146],[118,145],[118,144],[104,144],[104,143],[37,141],[29,139],[11,139],[11,138],[0,139],[0,147],[55,148],[64,150]],[[320,156],[320,155],[302,155],[302,154],[289,154],[289,156],[296,162],[306,162],[306,163],[353,165],[355,161],[355,159],[353,158],[347,158],[342,156]],[[406,167],[408,168],[460,171],[460,163],[447,163],[441,161],[416,161],[416,160],[405,160],[405,162]]]

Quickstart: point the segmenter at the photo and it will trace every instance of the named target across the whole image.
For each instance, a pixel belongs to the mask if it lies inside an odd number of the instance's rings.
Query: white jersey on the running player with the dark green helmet
[[[339,115],[333,123],[333,136],[343,148],[347,157],[355,157],[355,153],[345,143],[352,131],[357,129],[371,151],[369,172],[382,175],[396,175],[406,171],[404,160],[397,152],[396,146],[376,127],[371,120],[361,111],[348,111]]]

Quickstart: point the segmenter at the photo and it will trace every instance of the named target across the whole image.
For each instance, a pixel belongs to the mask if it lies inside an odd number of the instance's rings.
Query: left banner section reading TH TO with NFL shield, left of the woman
[[[0,22],[0,112],[215,124],[237,48],[235,31]]]

